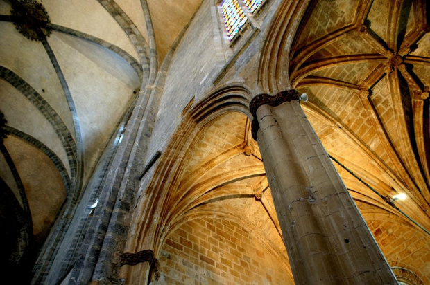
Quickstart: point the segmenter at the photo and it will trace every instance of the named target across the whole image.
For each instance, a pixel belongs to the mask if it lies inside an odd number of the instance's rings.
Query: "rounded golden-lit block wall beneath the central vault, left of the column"
[[[289,265],[252,232],[225,219],[182,224],[166,239],[159,261],[154,284],[294,284]]]

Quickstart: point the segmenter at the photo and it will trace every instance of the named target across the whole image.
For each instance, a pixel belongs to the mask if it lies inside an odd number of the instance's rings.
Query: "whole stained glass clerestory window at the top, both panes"
[[[221,12],[230,41],[248,21],[243,8],[254,14],[264,1],[266,0],[224,0],[221,3]]]

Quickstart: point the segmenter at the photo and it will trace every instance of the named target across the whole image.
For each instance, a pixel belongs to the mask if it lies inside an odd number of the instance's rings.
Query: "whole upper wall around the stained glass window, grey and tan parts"
[[[280,2],[268,1],[256,17],[261,31],[270,25]],[[224,29],[216,1],[203,0],[172,58],[147,160],[169,142],[191,100],[195,106],[209,91],[227,82],[245,82],[251,88],[257,82],[255,64],[264,32],[254,33],[248,27],[247,33],[230,46]],[[251,40],[250,35],[257,36]]]

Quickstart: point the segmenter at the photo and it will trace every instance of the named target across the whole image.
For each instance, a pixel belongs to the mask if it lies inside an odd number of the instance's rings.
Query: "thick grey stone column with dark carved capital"
[[[397,284],[299,98],[289,90],[250,103],[295,283]]]

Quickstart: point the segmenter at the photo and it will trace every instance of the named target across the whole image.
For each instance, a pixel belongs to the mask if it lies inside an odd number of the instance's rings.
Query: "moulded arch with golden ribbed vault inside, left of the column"
[[[254,199],[255,194],[267,189],[258,147],[250,140],[250,98],[248,87],[228,84],[209,93],[189,111],[184,111],[182,123],[154,169],[153,178],[142,183],[141,199],[137,202],[135,211],[138,214],[133,217],[136,226],[132,228],[133,234],[126,252],[150,248],[157,257],[172,230],[181,221],[187,220],[192,212],[201,212],[199,209],[202,205],[229,198],[251,198],[249,201],[257,201]],[[234,126],[236,120],[240,127]],[[217,142],[206,136],[216,132],[210,128],[216,128],[217,123],[221,127],[224,123],[232,124],[228,125],[230,129],[224,129],[225,133],[220,135],[230,136],[229,132],[233,134],[231,139],[234,143],[225,143],[229,147],[221,146],[223,143],[217,145]],[[216,147],[221,147],[213,151],[208,147],[209,140]],[[243,155],[247,149],[251,149],[252,154]],[[155,209],[158,209],[157,212]],[[264,210],[262,206],[261,209]],[[272,214],[274,212],[273,208]],[[270,217],[267,219],[273,225]],[[282,245],[282,237],[272,227]],[[271,246],[273,248],[274,245]],[[279,247],[277,250],[279,251]],[[284,253],[277,255],[285,262],[285,249],[282,251]],[[141,274],[139,265],[128,269],[126,267],[123,266],[123,274],[128,275],[128,278],[145,278],[137,277]]]

